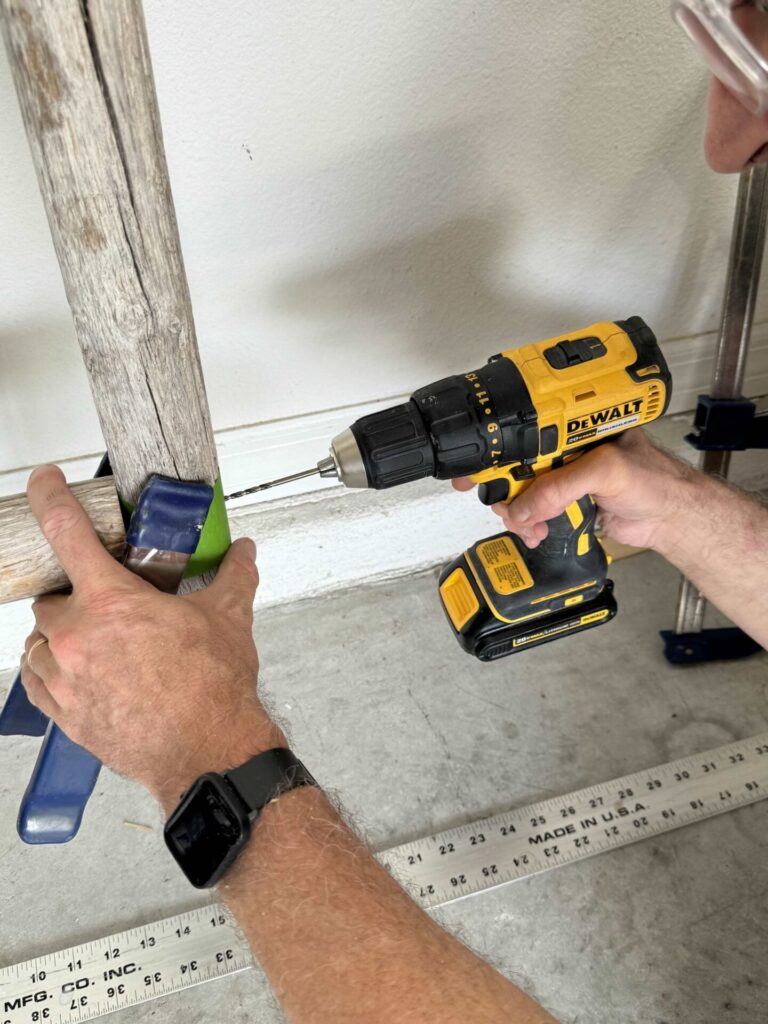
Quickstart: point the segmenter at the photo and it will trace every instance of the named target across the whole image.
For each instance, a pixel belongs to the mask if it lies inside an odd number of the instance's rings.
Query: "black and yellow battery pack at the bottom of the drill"
[[[592,629],[616,613],[607,558],[598,541],[579,559],[527,549],[512,534],[478,541],[440,573],[454,633],[481,662]],[[547,550],[548,549],[548,550]]]

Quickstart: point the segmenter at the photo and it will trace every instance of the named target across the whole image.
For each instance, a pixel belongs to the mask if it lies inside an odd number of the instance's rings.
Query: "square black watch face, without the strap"
[[[198,889],[215,885],[248,840],[250,822],[228,784],[203,775],[165,826],[168,849]]]

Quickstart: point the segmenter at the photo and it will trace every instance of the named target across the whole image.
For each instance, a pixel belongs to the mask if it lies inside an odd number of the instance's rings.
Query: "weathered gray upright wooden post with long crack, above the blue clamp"
[[[0,14],[118,492],[135,503],[151,473],[213,483],[141,4],[0,0]]]

